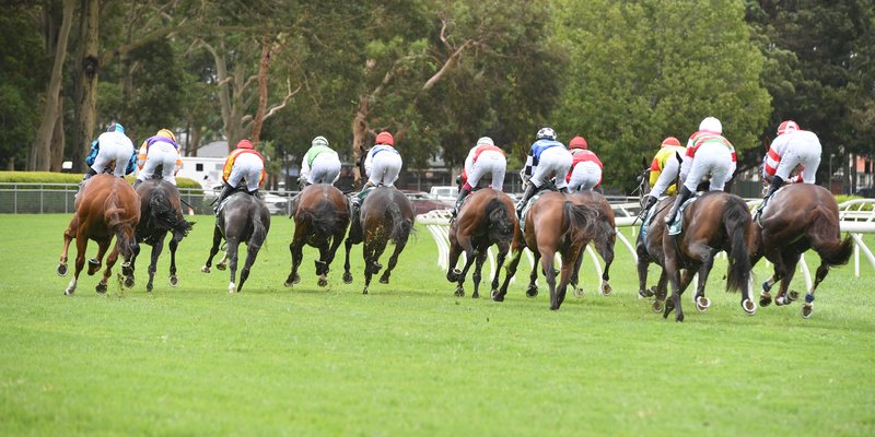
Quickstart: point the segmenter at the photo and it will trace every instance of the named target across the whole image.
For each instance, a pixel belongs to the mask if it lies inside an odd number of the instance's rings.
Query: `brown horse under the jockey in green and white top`
[[[289,245],[292,271],[285,280],[285,286],[301,282],[298,268],[304,258],[303,249],[306,244],[319,249],[316,275],[319,276],[319,286],[324,287],[328,285],[328,267],[334,261],[349,226],[349,201],[330,184],[311,185],[301,191],[292,216],[294,236]]]

